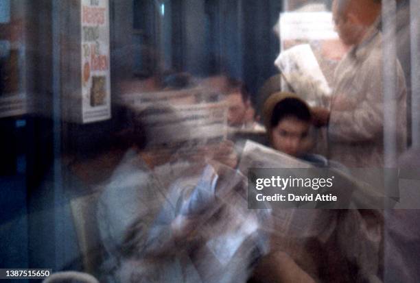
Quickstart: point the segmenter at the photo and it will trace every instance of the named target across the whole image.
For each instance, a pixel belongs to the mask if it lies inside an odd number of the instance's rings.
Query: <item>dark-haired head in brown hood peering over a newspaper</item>
[[[310,108],[296,95],[271,95],[264,105],[264,122],[270,143],[278,151],[300,157],[312,147]]]

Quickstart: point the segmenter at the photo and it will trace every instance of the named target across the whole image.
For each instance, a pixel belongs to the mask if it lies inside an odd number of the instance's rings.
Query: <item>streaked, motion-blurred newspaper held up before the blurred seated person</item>
[[[163,147],[168,143],[163,145],[159,140],[170,140],[170,146],[178,146],[205,145],[226,139],[227,106],[219,100],[217,94],[201,87],[122,95],[124,104],[140,112],[166,109],[145,112],[143,117],[146,126],[152,129],[148,133],[151,143]]]

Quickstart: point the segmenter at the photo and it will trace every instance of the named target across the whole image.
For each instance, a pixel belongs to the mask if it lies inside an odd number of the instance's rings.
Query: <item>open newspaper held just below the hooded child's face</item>
[[[296,160],[291,156],[248,141],[242,153],[239,169],[248,174],[247,171],[250,168],[297,169],[314,167],[301,160]],[[390,176],[385,182],[383,177],[384,173],[381,169],[371,169],[369,173],[366,173],[366,169],[350,170],[339,167],[320,168],[320,170],[329,170],[334,175],[334,191],[337,195],[340,195],[340,201],[342,201],[343,205],[342,208],[383,208],[384,201],[387,201],[389,197],[384,195],[381,188],[384,187],[384,184],[388,183],[397,186],[397,183],[395,183],[397,182],[397,177],[392,178]],[[392,170],[385,171],[387,176],[392,175],[392,173]],[[301,245],[301,241],[305,241],[305,238],[318,237],[320,241],[327,239],[334,230],[336,225],[335,221],[337,221],[336,217],[340,213],[340,210],[316,208],[319,208],[319,206],[281,208],[281,206],[273,204],[272,217],[274,229],[272,230],[272,235],[276,238],[275,245],[285,250],[299,250],[299,245]]]

